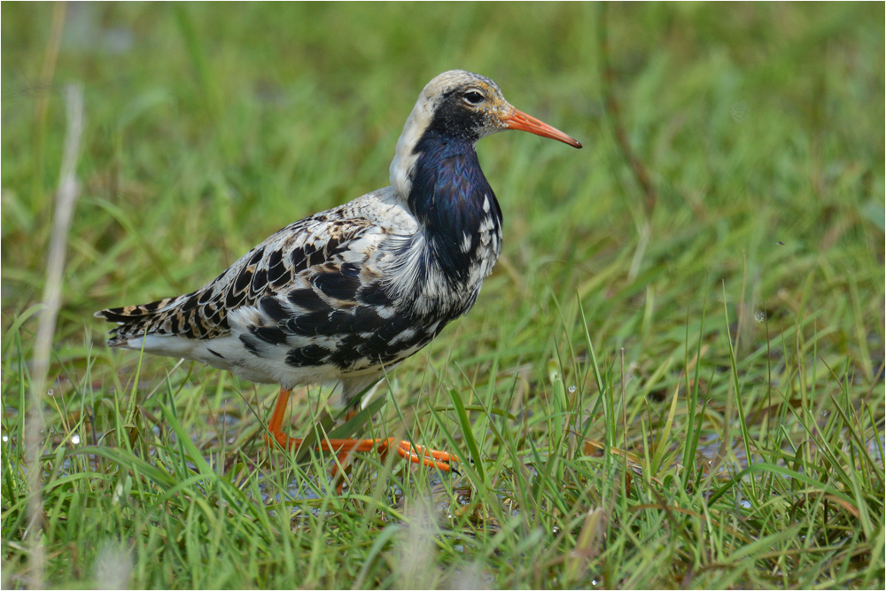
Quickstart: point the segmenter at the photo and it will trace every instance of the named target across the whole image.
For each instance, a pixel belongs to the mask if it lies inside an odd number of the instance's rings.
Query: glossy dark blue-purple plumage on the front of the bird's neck
[[[421,155],[408,204],[424,225],[432,255],[452,285],[468,280],[471,262],[478,256],[481,224],[489,220],[494,228],[501,228],[501,208],[480,169],[474,141],[448,136],[431,126],[415,148]],[[488,212],[483,209],[486,199]],[[465,249],[467,239],[470,247]]]

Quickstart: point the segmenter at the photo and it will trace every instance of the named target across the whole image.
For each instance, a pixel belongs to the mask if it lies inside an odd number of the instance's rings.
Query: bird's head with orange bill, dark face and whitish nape
[[[420,154],[423,138],[476,144],[481,137],[505,129],[528,131],[580,148],[581,144],[547,123],[518,111],[501,95],[498,84],[464,70],[449,70],[428,82],[416,101],[397,142],[391,163],[391,183],[400,195],[408,195],[409,175]]]

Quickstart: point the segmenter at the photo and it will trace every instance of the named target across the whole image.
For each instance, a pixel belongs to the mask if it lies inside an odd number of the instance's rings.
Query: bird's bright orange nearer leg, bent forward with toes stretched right
[[[274,413],[271,420],[268,421],[268,445],[273,446],[275,443],[287,449],[298,449],[303,439],[296,439],[288,436],[283,432],[283,419],[286,414],[286,405],[289,404],[289,390],[280,389],[280,395],[277,396]],[[389,448],[393,447],[397,450],[397,454],[412,463],[422,463],[425,466],[436,466],[439,470],[448,472],[451,470],[449,463],[457,463],[458,457],[448,452],[437,451],[436,449],[428,449],[423,446],[413,446],[405,440],[397,439],[323,439],[317,446],[323,451],[331,451],[338,454],[339,458],[350,454],[351,452],[370,452],[377,450],[379,454],[385,455]]]

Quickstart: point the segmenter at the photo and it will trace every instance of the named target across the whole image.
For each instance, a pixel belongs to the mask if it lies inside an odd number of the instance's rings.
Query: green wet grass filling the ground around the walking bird
[[[882,4],[72,4],[47,67],[53,10],[2,5],[4,587],[35,536],[52,587],[884,586]],[[366,455],[330,494],[331,458],[265,447],[274,387],[107,349],[95,310],[385,186],[452,67],[585,144],[479,144],[501,261],[360,429],[459,474]],[[26,533],[68,82],[81,195]]]

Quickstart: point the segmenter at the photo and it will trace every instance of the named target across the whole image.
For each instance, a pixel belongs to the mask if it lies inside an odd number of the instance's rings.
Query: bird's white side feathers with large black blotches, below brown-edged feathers
[[[391,367],[416,353],[455,315],[423,319],[397,307],[386,281],[390,268],[379,260],[391,256],[385,242],[402,238],[374,227],[327,248],[281,289],[231,312],[234,336],[276,367],[330,366],[345,374]]]

